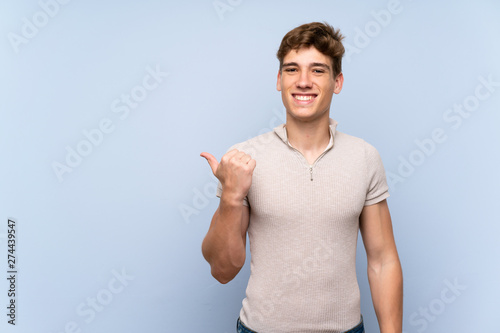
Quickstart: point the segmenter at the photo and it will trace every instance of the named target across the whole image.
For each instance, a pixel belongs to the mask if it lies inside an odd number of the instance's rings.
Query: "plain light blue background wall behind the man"
[[[249,259],[227,285],[210,275],[200,247],[218,199],[199,154],[284,121],[275,53],[311,21],[346,36],[338,130],[390,176],[404,331],[497,331],[499,14],[493,0],[2,1],[0,267],[15,218],[19,274],[16,326],[0,283],[1,331],[234,332]],[[430,144],[435,129],[446,140]],[[377,332],[361,242],[357,269]]]

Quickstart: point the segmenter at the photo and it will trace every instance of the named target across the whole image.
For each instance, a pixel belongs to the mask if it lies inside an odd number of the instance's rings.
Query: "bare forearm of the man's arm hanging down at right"
[[[368,280],[380,333],[401,333],[403,326],[403,273],[399,259],[368,265]]]

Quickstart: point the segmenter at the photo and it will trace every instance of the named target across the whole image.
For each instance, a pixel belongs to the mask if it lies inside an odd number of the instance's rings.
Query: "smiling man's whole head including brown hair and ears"
[[[333,94],[342,90],[342,35],[323,23],[310,23],[287,33],[278,51],[276,89],[288,121],[328,123]]]

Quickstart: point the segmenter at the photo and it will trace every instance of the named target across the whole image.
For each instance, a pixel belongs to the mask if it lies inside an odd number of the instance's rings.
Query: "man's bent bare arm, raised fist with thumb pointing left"
[[[236,149],[222,156],[220,163],[211,154],[202,153],[201,156],[206,158],[222,185],[219,208],[212,217],[201,249],[212,276],[220,283],[228,283],[245,264],[250,208],[243,201],[252,184],[256,162]]]

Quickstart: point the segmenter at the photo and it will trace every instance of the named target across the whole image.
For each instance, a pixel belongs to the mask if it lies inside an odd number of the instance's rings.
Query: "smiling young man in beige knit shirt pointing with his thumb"
[[[277,54],[286,124],[233,146],[220,163],[201,154],[220,181],[202,244],[219,282],[240,271],[249,235],[238,332],[364,332],[358,230],[380,331],[402,331],[402,272],[381,159],[329,116],[344,81],[342,39],[323,23],[288,32]]]

